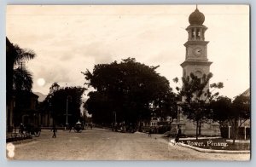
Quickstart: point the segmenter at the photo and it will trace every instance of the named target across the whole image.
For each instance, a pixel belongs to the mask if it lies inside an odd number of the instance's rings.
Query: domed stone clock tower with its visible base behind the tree
[[[193,73],[197,78],[201,79],[204,74],[210,72],[211,61],[207,58],[207,44],[205,41],[205,32],[207,26],[204,26],[205,15],[202,14],[196,6],[195,11],[189,15],[189,26],[186,28],[188,32],[188,41],[184,43],[186,47],[186,57],[181,66],[183,67],[183,78],[190,76]],[[209,89],[209,83],[204,88],[204,91]],[[178,103],[183,103],[185,99]],[[177,108],[177,122],[172,123],[173,128],[179,124],[185,135],[195,135],[196,125],[193,120],[190,120],[183,115],[182,107]],[[201,124],[201,135],[220,135],[219,124],[209,123]]]

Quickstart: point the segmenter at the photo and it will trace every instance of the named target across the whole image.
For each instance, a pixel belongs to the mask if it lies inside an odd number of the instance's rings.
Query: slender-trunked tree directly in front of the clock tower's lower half
[[[190,73],[187,78],[182,78],[183,87],[176,88],[178,95],[183,98],[183,103],[181,103],[183,114],[195,121],[196,140],[198,135],[201,135],[201,124],[207,122],[211,113],[210,101],[218,96],[218,92],[212,94],[212,91],[223,88],[223,83],[212,83],[210,87],[213,90],[207,89],[210,78],[212,78],[211,72],[207,75],[204,74],[202,78],[197,78],[193,73]],[[178,79],[174,78],[173,81],[177,83]]]

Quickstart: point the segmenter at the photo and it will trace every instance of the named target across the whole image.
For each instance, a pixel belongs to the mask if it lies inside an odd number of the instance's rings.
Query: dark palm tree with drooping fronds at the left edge
[[[32,89],[32,74],[22,66],[23,60],[30,60],[36,55],[31,49],[21,49],[18,45],[9,42],[6,37],[6,104],[8,113],[14,113],[13,118],[8,116],[7,124],[20,122],[20,116],[28,111],[28,104],[34,96]],[[21,66],[20,66],[21,65]],[[15,98],[15,108],[11,107],[11,101]]]

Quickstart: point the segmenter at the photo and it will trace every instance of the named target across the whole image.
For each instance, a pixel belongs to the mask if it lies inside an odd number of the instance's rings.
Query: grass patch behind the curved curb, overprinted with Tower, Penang
[[[181,139],[179,142],[183,142],[189,146],[200,147],[204,149],[212,150],[234,150],[244,151],[251,149],[251,143],[236,142],[233,145],[232,142],[226,141],[225,139],[199,139],[199,140],[185,140]]]

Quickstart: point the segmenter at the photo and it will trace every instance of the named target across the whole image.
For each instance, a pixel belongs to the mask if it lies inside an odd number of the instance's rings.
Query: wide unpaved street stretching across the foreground
[[[249,160],[250,154],[201,153],[170,146],[162,135],[93,129],[75,133],[42,130],[33,141],[15,145],[20,160]]]

